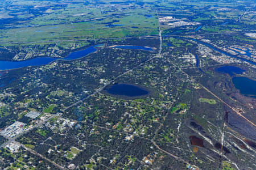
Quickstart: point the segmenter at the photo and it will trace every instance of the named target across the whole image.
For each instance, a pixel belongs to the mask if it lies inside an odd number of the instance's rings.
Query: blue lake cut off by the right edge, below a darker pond
[[[234,77],[232,81],[241,94],[256,97],[256,81],[246,77]]]

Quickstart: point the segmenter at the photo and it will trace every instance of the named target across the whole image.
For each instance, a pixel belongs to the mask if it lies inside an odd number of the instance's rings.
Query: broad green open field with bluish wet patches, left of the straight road
[[[0,32],[2,44],[9,42],[38,42],[37,44],[41,44],[40,41],[76,41],[147,35],[158,35],[158,19],[155,16],[147,18],[143,14],[113,16],[71,24],[12,28]]]

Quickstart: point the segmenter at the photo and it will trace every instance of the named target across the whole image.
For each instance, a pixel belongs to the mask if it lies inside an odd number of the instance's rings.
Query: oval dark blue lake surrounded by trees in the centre
[[[109,94],[118,95],[118,96],[126,96],[126,97],[137,97],[148,95],[149,91],[134,86],[131,84],[114,84],[108,90],[106,90]]]

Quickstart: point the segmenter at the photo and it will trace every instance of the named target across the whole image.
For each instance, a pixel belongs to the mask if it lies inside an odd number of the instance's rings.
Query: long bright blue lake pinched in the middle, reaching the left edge
[[[96,52],[97,49],[95,47],[100,45],[94,45],[84,50],[72,52],[67,57],[61,58],[60,60],[72,60],[72,59],[82,58],[90,53]],[[38,58],[28,59],[25,61],[0,61],[0,70],[18,69],[18,68],[28,67],[28,66],[42,66],[42,65],[47,65],[48,63],[51,63],[52,61],[55,61],[55,60],[57,60],[57,58],[38,57]]]

